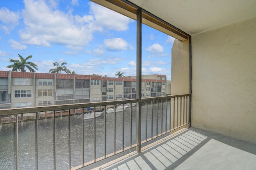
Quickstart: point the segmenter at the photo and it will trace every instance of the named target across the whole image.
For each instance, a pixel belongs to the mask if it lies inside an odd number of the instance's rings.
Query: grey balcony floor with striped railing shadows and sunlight
[[[255,170],[256,144],[188,128],[105,170]]]

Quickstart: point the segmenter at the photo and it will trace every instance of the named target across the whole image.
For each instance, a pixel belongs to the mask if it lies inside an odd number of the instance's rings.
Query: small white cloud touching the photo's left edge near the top
[[[0,8],[0,21],[6,25],[0,25],[0,28],[5,30],[7,34],[19,24],[20,14],[19,12],[12,12],[9,9],[2,7]]]

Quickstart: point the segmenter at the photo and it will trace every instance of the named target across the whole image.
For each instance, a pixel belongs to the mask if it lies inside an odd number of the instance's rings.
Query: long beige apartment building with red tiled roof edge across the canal
[[[136,76],[0,71],[0,109],[136,99],[136,91]],[[142,75],[141,91],[166,95],[166,75]]]

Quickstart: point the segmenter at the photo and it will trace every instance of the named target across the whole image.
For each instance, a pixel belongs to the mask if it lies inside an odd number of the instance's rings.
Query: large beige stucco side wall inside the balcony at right
[[[256,143],[256,18],[192,36],[192,127]]]

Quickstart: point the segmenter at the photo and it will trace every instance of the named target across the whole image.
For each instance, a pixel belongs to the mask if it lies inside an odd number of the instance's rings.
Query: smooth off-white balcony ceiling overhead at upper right
[[[256,0],[129,0],[194,35],[256,16]]]

